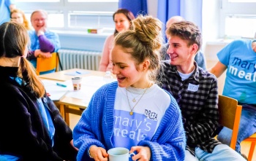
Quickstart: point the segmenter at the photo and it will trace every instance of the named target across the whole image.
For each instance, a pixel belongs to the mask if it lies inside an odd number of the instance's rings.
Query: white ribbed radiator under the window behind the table
[[[60,49],[59,58],[62,70],[70,68],[84,68],[97,71],[102,52],[86,50],[64,50]]]

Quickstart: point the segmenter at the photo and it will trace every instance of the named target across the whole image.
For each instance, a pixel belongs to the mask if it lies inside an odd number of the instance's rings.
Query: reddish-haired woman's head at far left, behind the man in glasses
[[[12,9],[10,13],[11,20],[15,20],[17,23],[21,23],[29,31],[31,26],[29,20],[26,19],[24,12],[21,9]]]

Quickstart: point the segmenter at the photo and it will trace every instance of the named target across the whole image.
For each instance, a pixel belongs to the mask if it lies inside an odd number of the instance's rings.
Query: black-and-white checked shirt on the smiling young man
[[[158,81],[160,87],[170,92],[181,108],[186,131],[187,147],[195,154],[195,147],[206,152],[213,152],[214,147],[221,144],[217,141],[219,127],[218,87],[214,74],[198,68],[184,81],[181,80],[176,66],[169,60],[162,61]]]

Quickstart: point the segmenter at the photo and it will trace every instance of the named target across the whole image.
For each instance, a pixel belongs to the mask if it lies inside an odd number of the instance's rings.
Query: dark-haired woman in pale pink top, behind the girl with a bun
[[[112,72],[113,65],[110,58],[110,52],[113,47],[113,39],[119,32],[128,30],[131,27],[131,20],[133,19],[135,19],[135,16],[128,9],[118,9],[113,14],[113,21],[115,22],[116,28],[114,34],[105,39],[102,58],[99,62],[99,71]]]

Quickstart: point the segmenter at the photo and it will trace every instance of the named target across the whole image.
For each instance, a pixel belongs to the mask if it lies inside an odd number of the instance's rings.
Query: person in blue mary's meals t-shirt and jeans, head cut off
[[[219,77],[227,70],[222,95],[235,98],[243,106],[236,143],[236,152],[241,153],[241,141],[256,133],[256,40],[236,39],[217,56],[219,61],[208,71]],[[218,140],[230,145],[231,133],[223,127]]]

